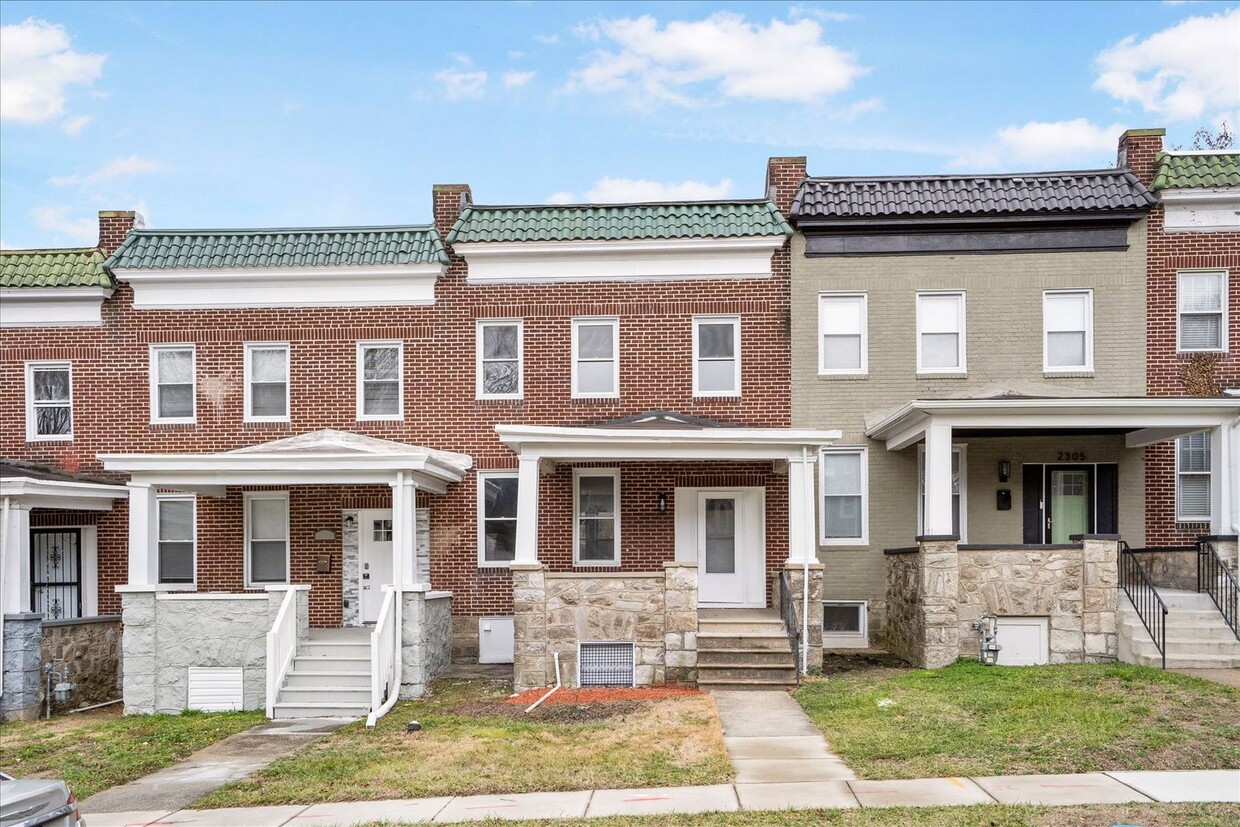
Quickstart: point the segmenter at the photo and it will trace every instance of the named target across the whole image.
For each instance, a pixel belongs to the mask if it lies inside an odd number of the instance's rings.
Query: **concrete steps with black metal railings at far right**
[[[1240,640],[1223,620],[1208,594],[1159,589],[1167,604],[1167,668],[1240,668]],[[1162,666],[1162,656],[1127,595],[1120,595],[1120,660],[1141,666]]]

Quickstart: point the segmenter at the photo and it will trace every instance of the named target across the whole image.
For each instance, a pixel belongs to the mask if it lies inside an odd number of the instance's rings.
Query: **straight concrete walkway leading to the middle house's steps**
[[[737,784],[847,781],[857,777],[787,692],[711,692]]]

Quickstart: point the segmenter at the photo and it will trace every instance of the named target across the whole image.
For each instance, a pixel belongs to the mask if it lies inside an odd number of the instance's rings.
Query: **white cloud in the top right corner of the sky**
[[[1240,108],[1240,9],[1188,17],[1145,40],[1125,37],[1096,60],[1094,88],[1172,120]]]

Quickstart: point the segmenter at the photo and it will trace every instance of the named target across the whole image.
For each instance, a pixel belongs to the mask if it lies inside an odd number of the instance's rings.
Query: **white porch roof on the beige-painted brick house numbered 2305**
[[[1240,399],[1229,397],[992,397],[914,399],[866,429],[901,450],[921,441],[931,424],[952,430],[1111,431],[1143,448],[1240,422]]]

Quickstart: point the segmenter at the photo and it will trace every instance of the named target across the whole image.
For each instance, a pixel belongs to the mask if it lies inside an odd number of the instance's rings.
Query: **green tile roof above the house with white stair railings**
[[[136,229],[112,254],[112,269],[358,267],[448,264],[429,226],[291,229]]]

